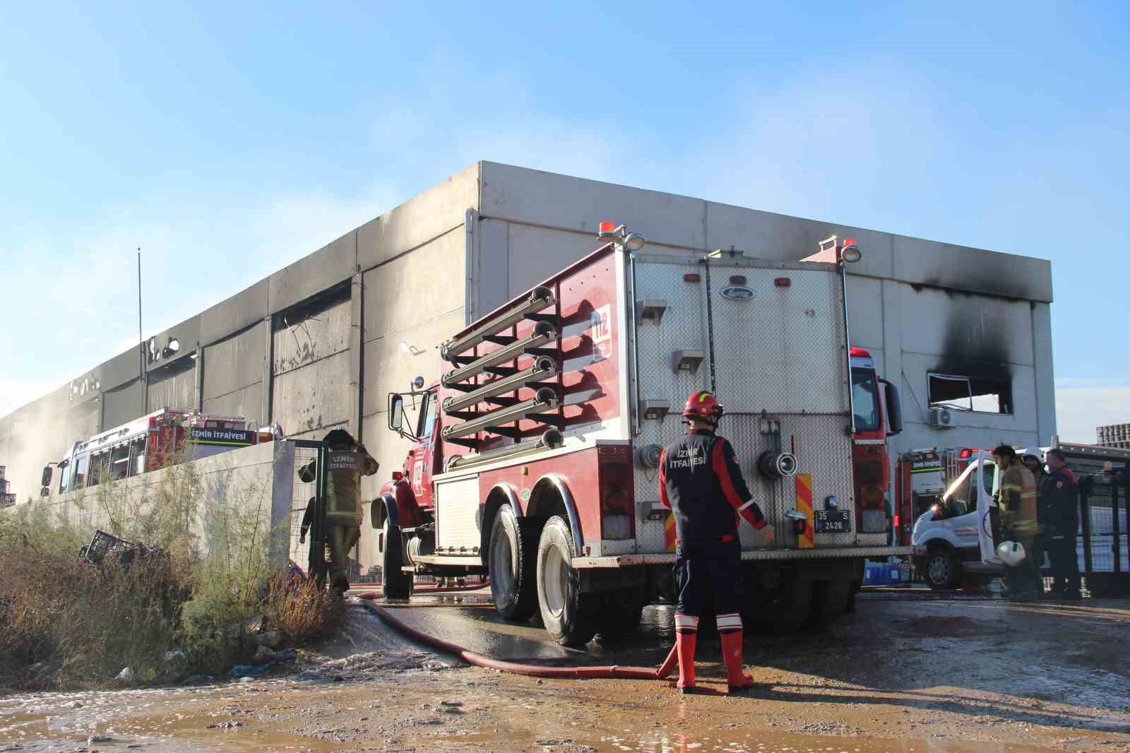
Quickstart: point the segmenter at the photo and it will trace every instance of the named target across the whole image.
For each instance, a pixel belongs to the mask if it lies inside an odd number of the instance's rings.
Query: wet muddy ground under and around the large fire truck
[[[468,648],[541,664],[658,665],[668,607],[629,646],[571,651],[499,624],[483,596],[397,613]],[[819,635],[747,637],[762,685],[725,694],[716,638],[699,685],[503,675],[429,654],[355,607],[294,673],[250,682],[0,698],[0,751],[1130,751],[1130,604],[861,595]]]

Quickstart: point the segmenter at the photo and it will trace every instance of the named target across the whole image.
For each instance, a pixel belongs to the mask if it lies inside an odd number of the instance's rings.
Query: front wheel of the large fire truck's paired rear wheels
[[[487,570],[495,609],[506,620],[529,620],[538,608],[537,539],[529,523],[518,519],[508,504],[498,508],[490,526]]]

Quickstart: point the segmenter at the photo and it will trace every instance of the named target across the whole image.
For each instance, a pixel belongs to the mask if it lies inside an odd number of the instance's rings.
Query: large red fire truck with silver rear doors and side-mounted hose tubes
[[[599,249],[453,334],[436,383],[389,395],[389,429],[412,444],[372,504],[385,595],[408,597],[419,573],[485,573],[503,617],[540,613],[563,644],[634,630],[645,604],[673,594],[660,453],[685,431],[686,396],[710,389],[777,529],[764,545],[739,528],[747,624],[836,620],[864,559],[913,552],[888,544],[885,453],[854,473],[857,447],[897,429],[894,388],[849,349],[844,265],[859,249],[831,239],[832,262],[675,257],[642,253],[623,226],[600,234]]]

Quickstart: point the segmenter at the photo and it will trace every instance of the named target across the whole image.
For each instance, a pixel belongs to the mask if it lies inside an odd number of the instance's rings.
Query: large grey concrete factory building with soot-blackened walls
[[[407,450],[385,430],[386,393],[436,379],[443,339],[596,248],[601,219],[659,253],[734,246],[796,260],[853,236],[852,344],[902,391],[894,451],[1055,433],[1045,260],[480,162],[162,332],[145,380],[131,349],[5,416],[0,465],[23,501],[73,440],[167,406],[278,422],[298,438],[345,425],[384,478]],[[931,425],[931,405],[949,407],[950,427]]]

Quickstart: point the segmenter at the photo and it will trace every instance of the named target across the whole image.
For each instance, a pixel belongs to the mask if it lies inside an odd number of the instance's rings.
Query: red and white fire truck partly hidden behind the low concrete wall
[[[104,479],[129,478],[165,468],[180,460],[197,460],[275,436],[242,416],[210,416],[163,408],[71,444],[63,459],[43,468],[41,494],[52,492],[54,468],[60,468],[55,492],[66,494]]]

